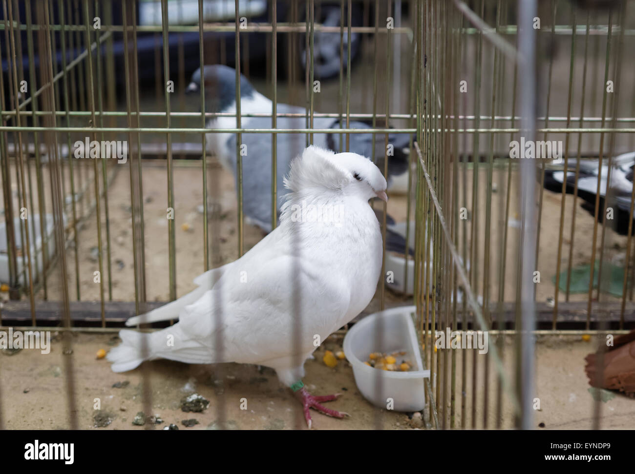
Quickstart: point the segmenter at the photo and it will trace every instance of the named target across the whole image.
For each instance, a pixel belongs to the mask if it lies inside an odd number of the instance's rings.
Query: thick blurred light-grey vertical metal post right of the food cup
[[[535,95],[536,95],[536,33],[531,25],[536,16],[536,0],[520,0],[518,12],[518,48],[523,56],[519,64],[521,95],[521,130],[533,140],[535,136]],[[521,160],[521,183],[523,240],[533,242],[535,237],[535,174],[536,168],[531,160]],[[535,300],[533,296],[532,281],[535,262],[535,247],[531,244],[522,248],[521,261],[523,262],[522,281],[522,307],[521,307],[521,419],[520,427],[529,430],[533,426],[533,410],[531,400],[533,398],[534,378],[534,346],[532,331],[535,327]]]

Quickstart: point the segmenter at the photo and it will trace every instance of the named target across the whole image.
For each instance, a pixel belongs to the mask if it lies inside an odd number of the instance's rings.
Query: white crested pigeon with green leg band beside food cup
[[[161,331],[119,332],[112,370],[144,360],[239,362],[272,367],[309,409],[343,418],[303,386],[304,362],[370,303],[382,267],[382,235],[368,201],[387,201],[386,180],[370,160],[311,146],[284,180],[281,221],[238,260],[199,275],[197,289],[126,324],[177,319]],[[298,328],[299,332],[294,331]],[[146,338],[145,357],[142,338]],[[170,342],[170,344],[168,344]]]

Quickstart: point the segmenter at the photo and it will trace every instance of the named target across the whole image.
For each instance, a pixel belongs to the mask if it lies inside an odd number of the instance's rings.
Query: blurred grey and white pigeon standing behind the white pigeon
[[[205,87],[206,112],[236,113],[236,70],[224,65],[204,66],[203,82]],[[199,93],[201,87],[201,69],[192,74],[187,87],[188,94]],[[271,114],[272,102],[260,94],[246,77],[241,75],[241,114]],[[284,103],[277,104],[279,114],[301,114],[300,117],[277,117],[277,128],[306,128],[306,109]],[[371,128],[368,122],[352,121],[351,128]],[[242,117],[243,128],[271,128],[271,117]],[[344,126],[344,125],[343,125]],[[214,117],[206,122],[207,128],[236,128],[236,117]],[[339,119],[314,117],[313,127],[318,129],[339,129]],[[340,151],[342,134],[316,133],[313,144],[335,151]],[[241,145],[246,146],[243,156],[243,212],[248,223],[271,232],[271,171],[272,171],[272,138],[269,133],[243,133]],[[388,180],[391,176],[402,174],[408,169],[408,152],[410,151],[410,135],[391,133],[389,143],[393,145],[393,155],[388,160]],[[345,151],[343,143],[342,151]],[[349,151],[364,157],[375,157],[375,164],[384,169],[385,135],[377,133],[373,150],[373,134],[352,133],[349,139]],[[284,202],[288,190],[284,188],[283,178],[289,172],[290,162],[302,153],[306,147],[304,133],[277,134],[277,198],[278,208]],[[236,134],[208,133],[206,149],[216,155],[222,165],[229,169],[237,185]],[[380,218],[381,221],[381,218]],[[404,251],[405,240],[398,235],[388,235],[387,245],[395,246],[395,250]]]

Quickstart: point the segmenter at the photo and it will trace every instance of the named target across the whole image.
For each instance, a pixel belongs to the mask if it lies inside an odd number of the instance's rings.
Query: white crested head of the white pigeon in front
[[[379,197],[388,201],[387,183],[379,168],[356,153],[338,153],[311,145],[291,162],[284,179],[294,193],[334,192],[368,201]]]

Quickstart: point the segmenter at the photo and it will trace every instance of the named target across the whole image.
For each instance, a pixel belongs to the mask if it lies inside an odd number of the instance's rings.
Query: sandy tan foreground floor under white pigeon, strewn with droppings
[[[288,390],[277,381],[269,369],[258,370],[255,365],[219,364],[186,365],[168,360],[146,362],[140,369],[124,374],[110,371],[106,360],[97,360],[98,349],[109,349],[111,334],[76,334],[73,340],[74,383],[76,390],[79,428],[95,429],[93,409],[95,398],[100,398],[103,414],[112,418],[107,429],[142,429],[132,425],[135,414],[143,411],[142,374],[147,372],[152,393],[152,414],[159,414],[164,423],[181,425],[184,419],[195,418],[199,425],[190,429],[218,428],[219,404],[225,413],[228,428],[237,429],[290,429],[295,428],[300,405]],[[318,429],[411,429],[417,427],[406,414],[380,410],[366,402],[356,389],[352,369],[340,361],[334,369],[321,361],[325,348],[337,348],[341,341],[331,336],[316,353],[315,360],[305,364],[305,383],[316,394],[342,393],[328,405],[351,414],[344,420],[312,414]],[[579,336],[539,336],[537,342],[536,397],[540,410],[535,412],[535,426],[544,423],[544,429],[588,429],[592,426],[594,400],[584,374],[584,357],[591,352],[592,343]],[[512,374],[511,338],[505,341],[505,370]],[[41,355],[37,350],[22,350],[10,359],[3,359],[0,385],[3,387],[3,419],[9,429],[57,429],[68,426],[66,382],[62,343],[51,344],[51,352]],[[483,360],[479,356],[479,380],[483,380]],[[457,393],[460,393],[462,355],[457,352]],[[471,394],[472,363],[467,357],[467,393]],[[557,362],[556,362],[557,361]],[[10,363],[8,363],[10,362]],[[496,383],[490,365],[490,394],[488,426],[495,426]],[[124,388],[113,388],[117,382],[129,381]],[[477,428],[483,426],[483,400],[485,384],[479,383],[477,396]],[[28,389],[27,393],[25,393]],[[210,400],[210,407],[202,413],[185,413],[180,400],[196,391]],[[602,428],[635,429],[635,400],[618,393],[605,392],[601,409]],[[448,392],[449,397],[449,392]],[[246,398],[247,409],[241,410],[241,398]],[[457,398],[458,402],[458,398]],[[449,404],[449,401],[448,401]],[[457,425],[460,425],[460,402]],[[472,400],[466,400],[466,422],[471,427]],[[449,409],[448,409],[449,412]],[[504,427],[511,426],[511,405],[502,405]],[[300,419],[300,421],[302,421]],[[300,425],[305,428],[304,422]]]

